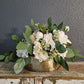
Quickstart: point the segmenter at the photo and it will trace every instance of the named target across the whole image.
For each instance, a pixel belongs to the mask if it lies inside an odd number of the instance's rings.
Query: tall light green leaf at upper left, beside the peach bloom
[[[28,41],[29,43],[31,43],[31,39],[30,39],[30,35],[32,34],[32,28],[28,25],[25,25],[26,31],[25,33],[23,33],[23,36],[25,38],[26,41]]]

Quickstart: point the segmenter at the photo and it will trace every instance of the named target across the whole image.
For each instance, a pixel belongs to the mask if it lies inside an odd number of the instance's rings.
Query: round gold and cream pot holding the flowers
[[[56,64],[53,59],[39,62],[37,59],[32,58],[31,62],[28,65],[26,65],[25,68],[29,71],[49,72],[58,70],[60,68],[60,65]]]

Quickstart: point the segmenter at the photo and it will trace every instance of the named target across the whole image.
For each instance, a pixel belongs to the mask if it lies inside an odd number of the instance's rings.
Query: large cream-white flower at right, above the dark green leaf
[[[68,36],[65,35],[63,31],[59,31],[59,42],[61,44],[67,44],[67,43],[71,44],[71,41],[68,39]]]

